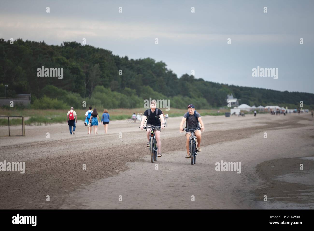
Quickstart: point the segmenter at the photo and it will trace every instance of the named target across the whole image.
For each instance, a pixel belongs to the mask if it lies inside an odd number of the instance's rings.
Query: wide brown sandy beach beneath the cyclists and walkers
[[[193,166],[184,158],[180,121],[168,119],[155,163],[145,131],[125,120],[111,121],[106,135],[102,125],[98,135],[87,135],[79,121],[75,135],[67,124],[51,124],[25,126],[25,137],[0,137],[0,162],[25,162],[24,174],[0,171],[0,208],[314,208],[310,113],[203,116],[202,152]],[[0,135],[7,129],[1,126]],[[221,161],[241,162],[241,173],[216,171]]]

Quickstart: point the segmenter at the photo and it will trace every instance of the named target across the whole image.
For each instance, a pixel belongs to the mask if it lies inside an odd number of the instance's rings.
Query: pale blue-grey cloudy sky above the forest
[[[163,61],[178,77],[193,69],[213,82],[314,93],[313,12],[306,0],[0,0],[0,38],[85,38],[119,56]],[[278,79],[252,77],[257,66],[278,68]]]

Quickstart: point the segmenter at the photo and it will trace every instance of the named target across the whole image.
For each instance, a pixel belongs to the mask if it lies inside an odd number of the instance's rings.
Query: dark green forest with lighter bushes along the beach
[[[38,77],[37,69],[62,68],[63,78]],[[184,74],[180,78],[166,63],[152,58],[129,59],[111,51],[78,42],[60,46],[44,41],[14,44],[0,39],[0,97],[31,93],[34,109],[82,107],[82,102],[106,108],[139,108],[143,100],[170,100],[170,107],[185,108],[192,103],[199,109],[226,107],[227,94],[240,104],[314,107],[314,94],[275,91],[214,83]]]

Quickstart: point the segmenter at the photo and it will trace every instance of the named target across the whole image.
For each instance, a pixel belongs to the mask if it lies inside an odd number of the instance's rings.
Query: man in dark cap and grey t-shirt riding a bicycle
[[[187,113],[185,113],[183,115],[183,118],[181,120],[180,123],[180,132],[183,132],[183,124],[184,122],[187,122],[187,128],[188,129],[195,129],[193,130],[196,136],[196,140],[197,140],[197,148],[198,151],[202,151],[201,149],[201,131],[204,130],[204,124],[203,124],[203,120],[201,118],[200,113],[198,113],[197,111],[195,111],[195,108],[192,104],[190,104],[189,106],[187,106]],[[202,125],[202,127],[199,126],[199,123]],[[201,130],[199,130],[199,128]],[[187,135],[189,134],[189,135]],[[187,137],[187,142],[186,142],[186,147],[187,147],[187,155],[185,158],[190,158],[190,153],[189,153],[189,141],[190,141],[190,136],[191,136],[191,132],[187,131],[185,136]]]

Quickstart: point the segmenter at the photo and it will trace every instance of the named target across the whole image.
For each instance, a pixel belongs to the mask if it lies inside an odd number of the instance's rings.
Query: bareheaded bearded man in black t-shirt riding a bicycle
[[[144,112],[141,126],[140,126],[142,130],[144,129],[144,123],[146,121],[146,118],[147,118],[147,124],[146,124],[147,127],[160,126],[162,129],[164,128],[165,126],[164,116],[163,116],[162,111],[156,108],[156,104],[157,102],[152,100],[150,102],[150,109],[147,109]],[[147,140],[148,140],[146,146],[149,147],[149,136],[151,133],[151,128],[147,128],[146,131],[147,131],[146,135],[147,135]],[[155,128],[155,137],[156,137],[157,146],[158,146],[158,157],[161,157],[160,128]]]

